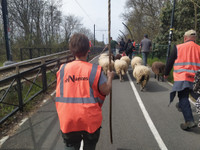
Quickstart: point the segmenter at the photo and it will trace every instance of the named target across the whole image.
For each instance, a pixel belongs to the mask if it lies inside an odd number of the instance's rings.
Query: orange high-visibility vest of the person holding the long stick
[[[84,61],[64,64],[57,72],[56,109],[63,133],[94,133],[102,123],[105,96],[98,90],[101,67]]]

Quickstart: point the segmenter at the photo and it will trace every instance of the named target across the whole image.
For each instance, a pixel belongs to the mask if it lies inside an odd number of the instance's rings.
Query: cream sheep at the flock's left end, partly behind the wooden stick
[[[108,54],[105,54],[105,53],[101,54],[99,57],[98,63],[102,67],[105,75],[107,75],[107,71],[109,69],[109,64],[110,64]],[[112,70],[114,69],[114,61],[113,60],[111,60],[111,69]]]

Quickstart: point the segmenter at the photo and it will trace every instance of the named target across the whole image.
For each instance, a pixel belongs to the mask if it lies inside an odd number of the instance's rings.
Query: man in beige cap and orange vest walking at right
[[[165,78],[168,77],[174,66],[174,84],[170,93],[170,102],[178,93],[178,108],[183,113],[185,122],[180,125],[181,129],[189,130],[196,127],[192,114],[189,94],[193,89],[194,76],[200,69],[200,46],[195,43],[196,31],[189,30],[184,34],[184,43],[174,46],[172,53],[166,64]]]

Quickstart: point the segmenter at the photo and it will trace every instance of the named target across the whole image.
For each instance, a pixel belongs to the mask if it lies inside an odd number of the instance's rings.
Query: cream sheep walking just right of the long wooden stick
[[[119,76],[120,81],[123,80],[123,76],[128,70],[128,65],[125,60],[115,60],[114,62],[115,72]]]

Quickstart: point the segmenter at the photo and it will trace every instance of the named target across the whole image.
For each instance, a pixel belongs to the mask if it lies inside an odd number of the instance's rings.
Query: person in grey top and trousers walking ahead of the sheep
[[[147,65],[147,58],[151,51],[151,40],[148,39],[148,35],[144,34],[143,40],[140,42],[140,52],[142,53],[143,63]]]

